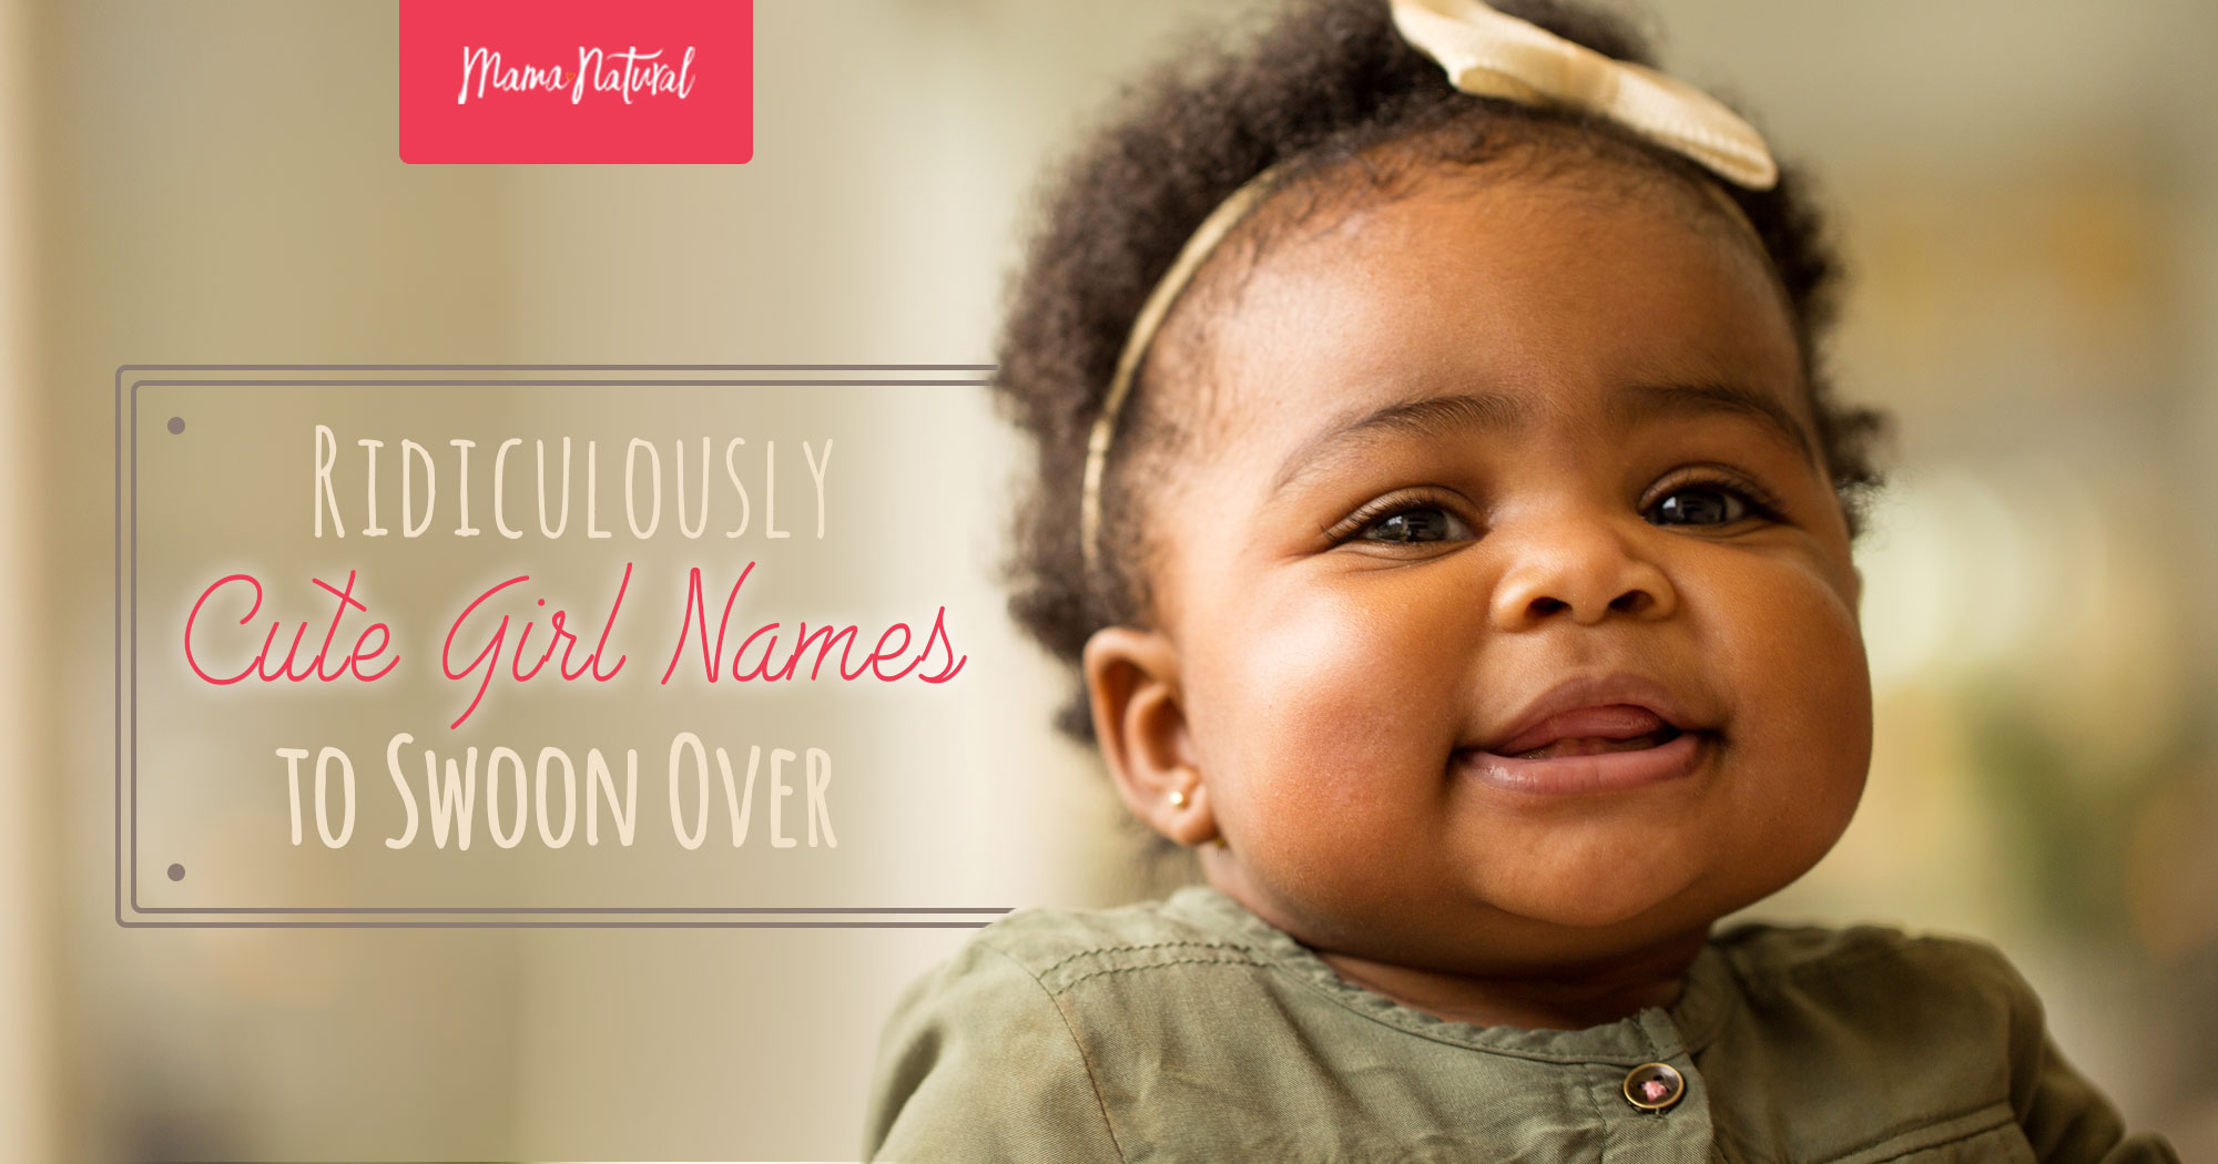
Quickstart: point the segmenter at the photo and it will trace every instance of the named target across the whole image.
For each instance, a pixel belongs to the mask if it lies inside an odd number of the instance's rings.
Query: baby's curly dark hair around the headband
[[[1610,13],[1564,0],[1495,7],[1610,58],[1655,67],[1641,35]],[[1386,144],[1408,146],[1402,155],[1415,166],[1375,164]],[[1770,191],[1719,182],[1604,118],[1459,93],[1439,64],[1402,40],[1386,0],[1302,0],[1249,44],[1202,49],[1129,89],[1111,120],[1049,177],[998,341],[998,401],[1038,452],[1038,477],[1016,514],[1007,563],[1016,621],[1076,670],[1096,630],[1147,625],[1151,616],[1144,499],[1129,483],[1151,477],[1136,466],[1160,468],[1164,450],[1189,437],[1160,406],[1167,392],[1151,390],[1162,339],[1118,415],[1100,499],[1102,563],[1091,576],[1078,543],[1080,477],[1089,430],[1140,304],[1220,202],[1269,166],[1284,175],[1280,191],[1304,182],[1315,191],[1351,177],[1384,191],[1426,169],[1490,164],[1533,144],[1550,149],[1526,155],[1561,157],[1566,151],[1557,146],[1568,144],[1570,155],[1630,162],[1635,171],[1710,186],[1739,204],[1785,295],[1819,446],[1850,537],[1861,537],[1868,499],[1883,486],[1874,446],[1890,419],[1837,401],[1823,375],[1819,346],[1834,321],[1841,264],[1799,169],[1781,166]],[[1207,295],[1202,282],[1180,306]],[[1193,313],[1173,310],[1164,333],[1180,315]],[[1082,681],[1056,727],[1093,743]]]

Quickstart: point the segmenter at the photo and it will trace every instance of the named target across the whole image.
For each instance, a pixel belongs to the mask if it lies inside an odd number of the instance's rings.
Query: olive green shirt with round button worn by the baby
[[[1677,1100],[1644,1111],[1632,1095]],[[1646,1071],[1637,1071],[1646,1069]],[[1646,1086],[1664,1084],[1661,1089]],[[1990,947],[1737,927],[1666,1007],[1473,1027],[1209,887],[978,931],[885,1029],[869,1160],[2176,1162]]]

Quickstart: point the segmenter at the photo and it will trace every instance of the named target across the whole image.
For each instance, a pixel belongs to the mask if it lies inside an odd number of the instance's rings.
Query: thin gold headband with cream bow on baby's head
[[[1586,44],[1564,40],[1528,20],[1495,11],[1479,0],[1388,0],[1395,29],[1424,55],[1439,62],[1448,84],[1477,98],[1517,104],[1555,104],[1610,118],[1641,137],[1692,157],[1719,177],[1752,191],[1779,182],[1763,137],[1717,98]],[[1251,177],[1218,204],[1180,248],[1178,259],[1156,282],[1118,353],[1100,417],[1087,437],[1085,486],[1078,499],[1078,543],[1087,572],[1100,565],[1100,494],[1109,466],[1109,441],[1140,359],[1156,328],[1171,313],[1193,275],[1273,188],[1278,169]]]

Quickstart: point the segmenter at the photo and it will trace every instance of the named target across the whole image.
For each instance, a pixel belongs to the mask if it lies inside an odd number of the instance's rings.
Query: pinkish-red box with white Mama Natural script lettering
[[[752,0],[399,0],[401,162],[754,155]]]

